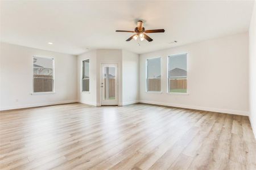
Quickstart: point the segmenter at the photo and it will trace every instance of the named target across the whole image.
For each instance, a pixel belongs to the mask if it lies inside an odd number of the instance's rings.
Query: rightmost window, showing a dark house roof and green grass
[[[168,57],[168,92],[187,93],[187,54]]]

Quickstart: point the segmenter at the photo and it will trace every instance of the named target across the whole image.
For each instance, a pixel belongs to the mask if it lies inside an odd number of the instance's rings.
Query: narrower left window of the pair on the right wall
[[[147,91],[161,91],[161,58],[147,59]]]

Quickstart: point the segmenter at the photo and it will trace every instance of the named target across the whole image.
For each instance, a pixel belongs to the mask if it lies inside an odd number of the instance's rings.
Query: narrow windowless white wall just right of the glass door
[[[139,55],[122,50],[122,105],[139,101]]]

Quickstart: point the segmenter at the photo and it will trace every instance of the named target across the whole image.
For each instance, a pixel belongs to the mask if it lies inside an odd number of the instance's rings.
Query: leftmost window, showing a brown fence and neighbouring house
[[[33,92],[53,92],[54,59],[33,56]]]

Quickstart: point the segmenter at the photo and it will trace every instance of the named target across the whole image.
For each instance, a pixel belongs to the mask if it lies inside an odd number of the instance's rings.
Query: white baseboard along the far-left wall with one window
[[[39,103],[39,104],[15,105],[15,106],[10,106],[10,107],[2,107],[2,108],[0,108],[0,111],[7,111],[7,110],[12,110],[12,109],[42,107],[42,106],[55,105],[55,104],[76,103],[76,102],[77,102],[77,100],[63,100],[63,101],[53,101],[53,102]]]

